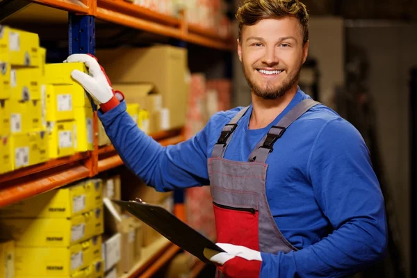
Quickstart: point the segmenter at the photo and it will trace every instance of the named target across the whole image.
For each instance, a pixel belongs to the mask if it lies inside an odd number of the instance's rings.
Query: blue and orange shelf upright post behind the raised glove
[[[92,54],[95,55],[95,17],[92,15],[76,15],[68,13],[68,45],[69,54]],[[97,117],[97,106],[89,96],[93,107],[94,116],[92,121],[92,133],[94,142],[94,151],[85,160],[85,167],[90,170],[90,177],[98,174],[98,132],[99,119]]]

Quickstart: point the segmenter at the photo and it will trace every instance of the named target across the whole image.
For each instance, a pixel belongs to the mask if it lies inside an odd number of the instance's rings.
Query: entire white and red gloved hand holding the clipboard
[[[210,261],[218,265],[218,269],[224,277],[259,277],[262,265],[260,252],[229,243],[217,243],[216,245],[226,252],[212,256]]]

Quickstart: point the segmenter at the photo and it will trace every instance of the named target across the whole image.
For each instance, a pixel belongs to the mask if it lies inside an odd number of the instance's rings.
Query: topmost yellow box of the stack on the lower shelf
[[[0,218],[72,218],[103,206],[100,179],[81,181],[0,209]]]

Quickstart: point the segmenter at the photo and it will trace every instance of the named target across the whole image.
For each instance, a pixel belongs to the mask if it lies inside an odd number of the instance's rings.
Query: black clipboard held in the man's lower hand
[[[208,258],[224,252],[213,241],[179,220],[179,218],[161,206],[147,204],[140,201],[140,199],[135,201],[112,199],[112,201],[204,263],[213,264]]]

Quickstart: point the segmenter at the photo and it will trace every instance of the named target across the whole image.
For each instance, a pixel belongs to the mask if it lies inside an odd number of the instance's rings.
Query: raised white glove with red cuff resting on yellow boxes
[[[122,92],[113,90],[103,67],[97,62],[97,58],[91,54],[72,54],[64,63],[84,63],[89,74],[74,70],[71,73],[73,79],[78,81],[91,95],[96,104],[100,105],[103,112],[109,111],[124,99]]]

